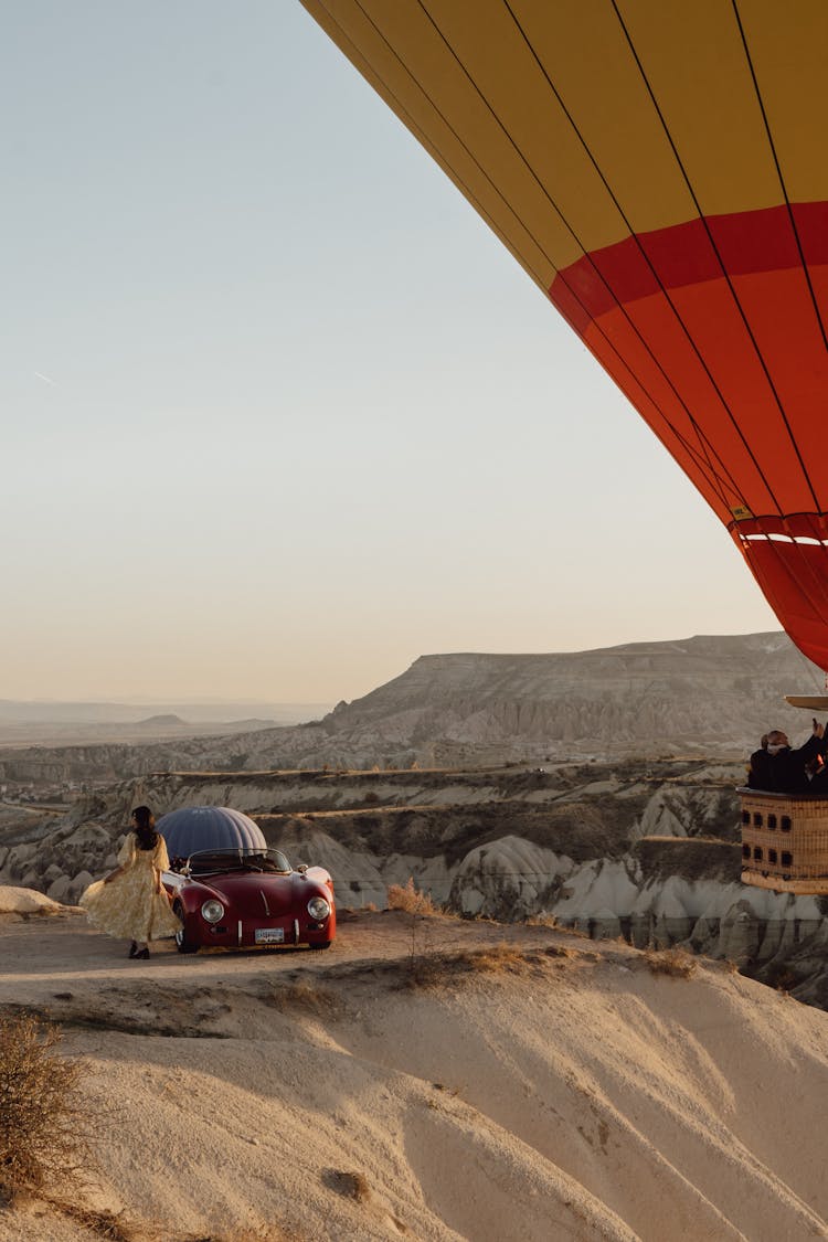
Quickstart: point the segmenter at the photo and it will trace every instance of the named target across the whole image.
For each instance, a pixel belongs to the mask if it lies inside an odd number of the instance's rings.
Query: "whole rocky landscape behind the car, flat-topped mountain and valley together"
[[[684,945],[828,1006],[826,902],[740,883],[735,794],[768,713],[807,728],[781,696],[813,679],[772,633],[432,656],[298,728],[6,751],[7,782],[86,792],[0,809],[0,881],[73,904],[138,801],[233,806],[328,867],[340,907],[382,908],[412,878],[464,918]]]

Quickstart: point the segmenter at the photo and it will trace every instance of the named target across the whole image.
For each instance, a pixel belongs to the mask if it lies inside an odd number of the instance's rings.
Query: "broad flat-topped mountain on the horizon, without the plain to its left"
[[[418,759],[459,761],[752,749],[773,723],[809,718],[786,693],[819,693],[824,674],[781,632],[695,636],[550,655],[422,656],[322,727],[366,743],[407,740]]]

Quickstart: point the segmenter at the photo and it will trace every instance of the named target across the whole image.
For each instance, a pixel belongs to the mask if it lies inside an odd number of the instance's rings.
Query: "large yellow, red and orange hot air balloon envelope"
[[[303,4],[610,373],[828,669],[828,5]],[[755,850],[751,864],[783,854],[771,879],[792,882],[798,848]]]

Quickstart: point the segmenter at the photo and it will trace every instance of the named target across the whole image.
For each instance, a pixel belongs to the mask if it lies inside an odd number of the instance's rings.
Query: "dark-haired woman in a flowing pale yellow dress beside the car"
[[[161,884],[170,859],[164,837],[155,831],[155,817],[148,806],[137,806],[132,821],[118,868],[89,884],[79,904],[102,932],[132,940],[130,958],[149,958],[149,941],[175,935],[181,923]]]

